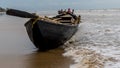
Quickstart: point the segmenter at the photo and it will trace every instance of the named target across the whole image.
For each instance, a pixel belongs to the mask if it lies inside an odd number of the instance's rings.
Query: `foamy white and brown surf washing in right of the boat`
[[[70,68],[120,68],[120,10],[79,10],[82,23],[65,44]]]

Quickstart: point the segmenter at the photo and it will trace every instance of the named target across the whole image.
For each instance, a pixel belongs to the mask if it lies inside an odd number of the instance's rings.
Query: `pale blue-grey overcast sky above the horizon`
[[[24,10],[109,9],[120,8],[120,0],[0,0],[0,6]]]

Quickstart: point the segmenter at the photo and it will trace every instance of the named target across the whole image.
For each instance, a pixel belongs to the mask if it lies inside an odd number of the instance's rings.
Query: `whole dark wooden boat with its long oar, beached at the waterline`
[[[16,10],[14,10],[16,12]],[[30,14],[17,14],[13,10],[8,10],[7,14],[20,17],[31,17]],[[20,13],[20,14],[19,14]],[[26,16],[24,15],[26,14]],[[32,14],[33,15],[33,14]],[[49,50],[57,48],[68,41],[78,30],[80,16],[71,13],[61,13],[54,17],[31,18],[25,23],[30,40],[39,50]],[[33,17],[32,16],[32,17]]]

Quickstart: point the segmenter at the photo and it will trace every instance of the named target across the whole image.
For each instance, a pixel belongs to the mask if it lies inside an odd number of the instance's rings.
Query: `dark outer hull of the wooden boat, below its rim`
[[[56,24],[42,20],[38,20],[33,26],[33,21],[33,19],[29,20],[25,27],[30,40],[40,50],[49,50],[63,45],[78,28],[78,25]]]

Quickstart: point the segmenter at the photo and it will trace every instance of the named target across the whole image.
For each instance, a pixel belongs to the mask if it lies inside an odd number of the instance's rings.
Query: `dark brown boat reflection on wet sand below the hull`
[[[28,68],[69,68],[72,61],[63,57],[63,52],[62,49],[55,49],[31,54],[27,60]]]

